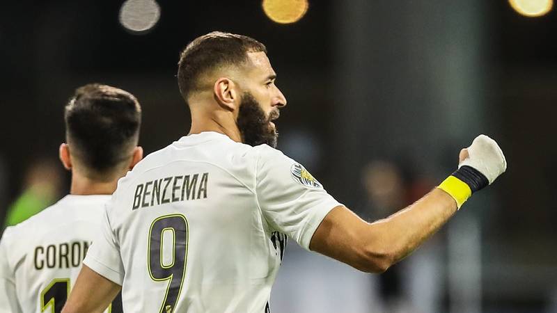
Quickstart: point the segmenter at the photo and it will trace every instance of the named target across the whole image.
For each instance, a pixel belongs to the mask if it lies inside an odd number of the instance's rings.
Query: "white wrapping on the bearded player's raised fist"
[[[476,168],[487,177],[489,184],[492,184],[507,169],[507,160],[505,160],[503,151],[488,136],[480,135],[476,137],[467,150],[469,157],[460,162],[458,168],[461,166]]]

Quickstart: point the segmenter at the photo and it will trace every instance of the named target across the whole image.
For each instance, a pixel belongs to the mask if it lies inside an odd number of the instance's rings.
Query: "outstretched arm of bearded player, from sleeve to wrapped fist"
[[[437,232],[471,193],[494,182],[507,168],[501,148],[485,135],[476,137],[459,159],[459,170],[439,188],[384,220],[366,223],[346,207],[332,209],[309,248],[361,271],[386,271]]]

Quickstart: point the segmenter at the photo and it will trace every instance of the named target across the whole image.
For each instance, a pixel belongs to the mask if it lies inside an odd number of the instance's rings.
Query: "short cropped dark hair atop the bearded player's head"
[[[194,39],[180,54],[178,86],[187,101],[198,89],[201,74],[223,65],[243,65],[249,61],[248,52],[265,52],[261,42],[245,35],[213,31]]]

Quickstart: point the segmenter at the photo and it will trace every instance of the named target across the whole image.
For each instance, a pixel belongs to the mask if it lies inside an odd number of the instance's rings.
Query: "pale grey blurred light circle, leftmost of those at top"
[[[145,33],[159,21],[161,9],[153,0],[127,0],[120,8],[120,24],[133,33]]]

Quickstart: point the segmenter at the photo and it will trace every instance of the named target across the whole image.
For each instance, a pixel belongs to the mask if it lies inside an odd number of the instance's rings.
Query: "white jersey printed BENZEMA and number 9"
[[[150,154],[107,204],[84,264],[125,312],[265,312],[286,236],[308,249],[340,205],[282,152],[204,132]]]

